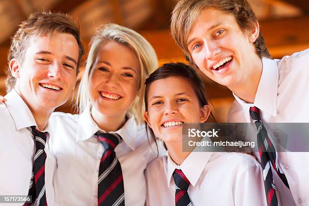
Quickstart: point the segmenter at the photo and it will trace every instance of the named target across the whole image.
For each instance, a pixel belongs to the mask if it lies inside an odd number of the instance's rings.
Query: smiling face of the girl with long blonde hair
[[[140,65],[131,49],[115,41],[99,48],[89,77],[92,112],[125,115],[139,90]]]

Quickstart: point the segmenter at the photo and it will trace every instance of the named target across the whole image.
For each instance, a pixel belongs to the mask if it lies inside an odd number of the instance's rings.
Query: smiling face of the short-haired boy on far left
[[[29,39],[24,62],[10,62],[15,89],[32,110],[54,110],[63,105],[76,82],[78,44],[71,34]]]

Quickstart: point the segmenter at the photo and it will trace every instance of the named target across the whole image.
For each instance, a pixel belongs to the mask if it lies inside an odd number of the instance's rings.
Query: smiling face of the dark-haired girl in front
[[[192,86],[179,76],[153,81],[147,104],[145,121],[167,144],[182,141],[183,123],[203,123],[210,115],[210,107],[201,107]]]

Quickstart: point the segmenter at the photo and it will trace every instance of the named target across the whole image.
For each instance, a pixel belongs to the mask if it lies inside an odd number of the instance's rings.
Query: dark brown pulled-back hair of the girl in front
[[[182,77],[188,81],[188,83],[192,86],[195,92],[195,95],[198,99],[198,103],[200,107],[203,107],[204,105],[208,105],[208,100],[207,100],[208,98],[205,93],[204,82],[201,80],[201,78],[198,76],[195,70],[191,66],[183,64],[183,63],[168,63],[168,64],[164,64],[163,66],[158,68],[155,72],[151,73],[145,81],[145,96],[144,96],[145,111],[148,111],[147,98],[148,98],[148,90],[149,90],[151,83],[157,80],[160,80],[160,79],[165,79],[168,77],[175,77],[175,76]],[[217,122],[212,112],[207,122]],[[148,126],[146,122],[145,122],[145,128],[146,128],[147,137],[148,137],[148,132],[149,132],[151,139],[157,145],[155,133],[153,133],[153,130]],[[157,150],[158,150],[158,145],[157,145]]]

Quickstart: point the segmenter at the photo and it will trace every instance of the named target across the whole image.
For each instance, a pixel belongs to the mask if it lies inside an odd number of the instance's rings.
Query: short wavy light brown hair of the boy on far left
[[[79,48],[77,61],[77,69],[80,60],[85,53],[82,40],[80,38],[79,26],[67,14],[52,12],[35,12],[30,14],[29,18],[23,21],[14,37],[12,38],[8,62],[16,58],[20,64],[24,62],[25,52],[28,47],[30,37],[38,37],[45,35],[55,35],[57,33],[68,33],[74,36]],[[16,84],[16,78],[12,76],[10,68],[7,70],[7,91],[11,91]]]

